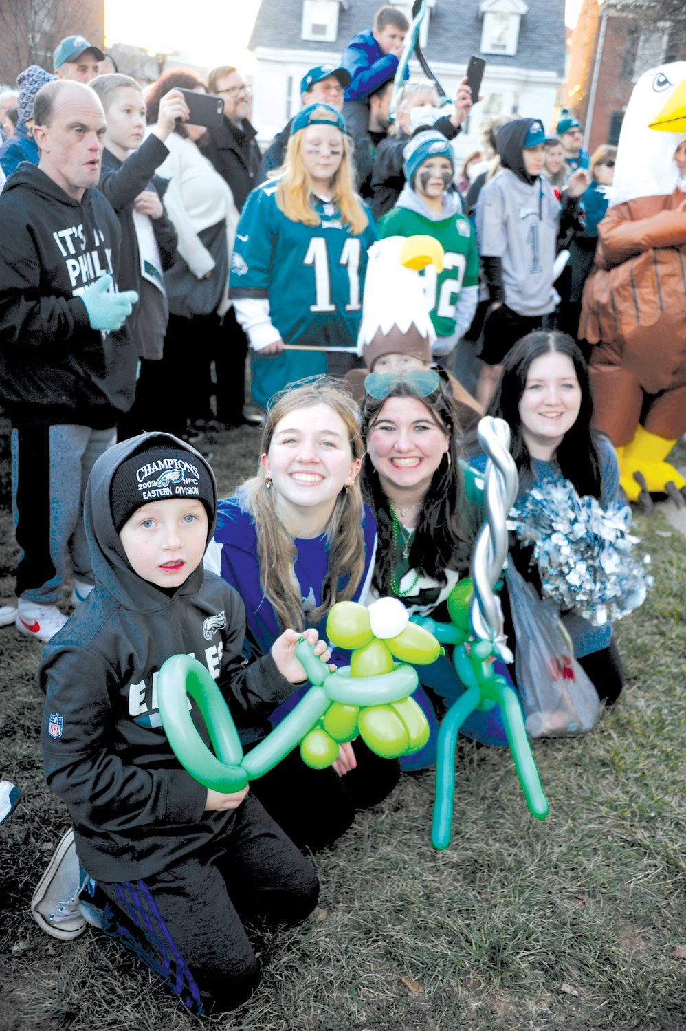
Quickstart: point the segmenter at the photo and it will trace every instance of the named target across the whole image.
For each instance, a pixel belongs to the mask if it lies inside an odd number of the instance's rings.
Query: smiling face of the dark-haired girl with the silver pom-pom
[[[550,461],[581,407],[581,388],[569,355],[535,358],[519,398],[521,435],[533,458]]]

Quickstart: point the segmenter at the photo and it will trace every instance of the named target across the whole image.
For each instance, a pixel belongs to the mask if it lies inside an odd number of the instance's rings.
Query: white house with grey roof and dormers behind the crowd
[[[395,3],[411,18],[411,3]],[[372,26],[381,0],[262,0],[249,48],[259,62],[252,123],[269,142],[300,108],[300,80],[338,65],[348,40]],[[458,158],[479,145],[481,119],[512,113],[550,128],[564,81],[564,0],[428,0],[420,41],[448,96],[471,55],[486,61],[481,95],[455,141]],[[422,78],[418,62],[410,67]]]

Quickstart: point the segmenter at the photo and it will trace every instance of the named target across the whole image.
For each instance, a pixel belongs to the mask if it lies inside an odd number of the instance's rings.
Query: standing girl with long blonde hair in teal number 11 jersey
[[[328,104],[304,107],[278,177],[248,195],[231,262],[258,404],[303,376],[353,367],[367,250],[376,239],[353,191],[343,119]]]

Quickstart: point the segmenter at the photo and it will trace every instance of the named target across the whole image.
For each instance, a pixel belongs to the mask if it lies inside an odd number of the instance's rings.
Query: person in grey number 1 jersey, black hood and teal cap
[[[490,300],[477,387],[484,408],[513,344],[531,330],[552,328],[559,303],[553,286],[558,240],[567,237],[589,184],[585,170],[574,172],[560,206],[541,175],[546,138],[539,119],[502,126],[495,137],[502,168],[479,194],[477,238]]]

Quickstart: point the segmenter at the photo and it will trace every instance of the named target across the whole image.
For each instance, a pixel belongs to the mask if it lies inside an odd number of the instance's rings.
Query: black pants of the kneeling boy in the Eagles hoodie
[[[297,799],[293,804],[298,804]],[[113,903],[105,928],[196,1013],[235,1009],[260,965],[243,924],[296,924],[316,905],[312,866],[252,792],[200,852],[144,880],[98,888]]]

